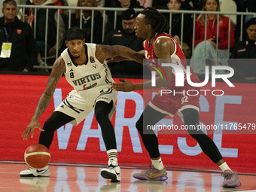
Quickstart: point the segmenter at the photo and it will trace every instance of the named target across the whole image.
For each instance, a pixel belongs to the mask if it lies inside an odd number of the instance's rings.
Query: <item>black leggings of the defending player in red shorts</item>
[[[199,124],[199,113],[197,110],[192,108],[187,108],[182,111],[184,116],[184,124],[185,125],[198,125]],[[148,151],[151,159],[155,159],[160,157],[159,149],[158,149],[158,140],[157,136],[154,134],[153,130],[151,134],[143,134],[143,129],[147,129],[147,125],[154,125],[163,117],[166,117],[166,114],[162,114],[159,111],[154,110],[150,106],[147,106],[142,113],[142,116],[136,123],[136,128],[139,131],[142,142],[145,145],[145,148]],[[144,120],[143,120],[144,119]],[[147,130],[148,133],[148,130]],[[217,146],[209,138],[202,130],[188,130],[190,136],[197,140],[203,152],[214,162],[217,163],[222,159],[221,153],[218,151]]]

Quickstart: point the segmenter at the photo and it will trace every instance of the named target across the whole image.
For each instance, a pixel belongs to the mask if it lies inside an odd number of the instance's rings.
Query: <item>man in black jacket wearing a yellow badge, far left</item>
[[[38,52],[31,27],[17,18],[17,4],[14,0],[3,2],[0,18],[0,70],[32,70],[37,63]]]

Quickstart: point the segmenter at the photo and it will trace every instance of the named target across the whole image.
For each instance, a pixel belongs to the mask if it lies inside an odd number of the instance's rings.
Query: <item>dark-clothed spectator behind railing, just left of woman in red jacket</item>
[[[181,10],[181,0],[169,0],[165,6],[162,7],[163,9],[169,10]],[[169,14],[163,14],[166,19],[169,21]],[[171,35],[181,44],[181,14],[172,13],[172,28],[171,28]],[[183,20],[183,39],[182,39],[182,50],[184,51],[184,55],[186,58],[190,58],[191,56],[191,49],[190,49],[190,42],[192,38],[193,32],[193,18],[191,14],[184,14]]]

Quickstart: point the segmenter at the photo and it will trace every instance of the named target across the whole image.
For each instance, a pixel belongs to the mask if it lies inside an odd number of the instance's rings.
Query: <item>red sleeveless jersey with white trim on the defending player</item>
[[[154,43],[156,42],[156,40],[158,38],[170,38],[174,44],[175,44],[175,50],[171,55],[172,63],[176,64],[178,66],[181,66],[181,69],[184,72],[184,86],[187,87],[189,86],[187,84],[186,77],[187,77],[187,62],[186,62],[186,58],[184,56],[184,53],[180,47],[180,45],[178,44],[177,41],[175,41],[175,39],[167,34],[167,33],[162,33],[159,35],[156,35],[156,37],[154,38],[153,44],[149,44],[148,40],[144,41],[144,49],[145,49],[145,57],[146,59],[157,59],[157,56],[154,53]],[[152,70],[152,68],[150,68]],[[154,70],[154,69],[153,69]],[[175,87],[175,73],[173,73],[174,70],[172,70],[172,79],[171,82],[169,84],[169,87],[172,87],[172,89]],[[190,80],[194,83],[198,83],[200,82],[199,78],[197,77],[197,75],[193,72],[192,69],[190,69]]]

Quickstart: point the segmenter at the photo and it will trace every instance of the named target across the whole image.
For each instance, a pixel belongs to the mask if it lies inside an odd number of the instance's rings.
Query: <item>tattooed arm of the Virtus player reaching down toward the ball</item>
[[[47,82],[47,87],[45,88],[44,93],[41,95],[38,101],[38,105],[35,108],[35,114],[33,115],[29,125],[26,127],[26,130],[23,133],[23,139],[28,139],[30,132],[31,137],[33,137],[35,128],[38,128],[40,131],[44,131],[41,129],[41,125],[38,119],[50,104],[50,100],[53,96],[56,85],[64,72],[66,72],[65,62],[62,57],[59,56],[59,58],[56,59],[53,64],[52,72],[50,73],[50,77]]]

